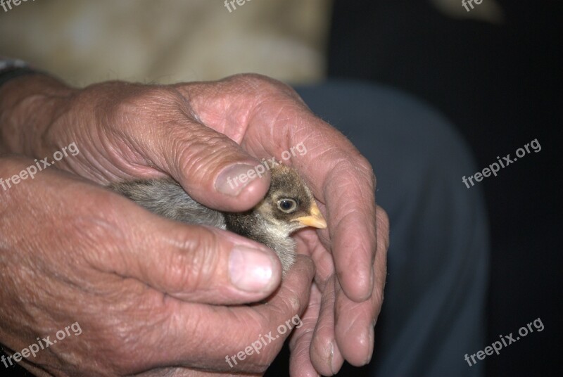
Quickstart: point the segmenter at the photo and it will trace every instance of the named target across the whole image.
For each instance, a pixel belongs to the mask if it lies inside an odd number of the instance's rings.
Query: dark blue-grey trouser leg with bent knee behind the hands
[[[341,376],[482,376],[488,224],[469,150],[441,115],[375,85],[298,88],[310,108],[372,163],[391,246],[385,301],[369,366]]]

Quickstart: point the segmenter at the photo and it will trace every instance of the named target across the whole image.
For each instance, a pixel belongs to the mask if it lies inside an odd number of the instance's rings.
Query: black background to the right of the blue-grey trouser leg
[[[336,0],[329,77],[368,79],[421,98],[456,124],[481,170],[538,139],[539,153],[479,183],[492,243],[483,348],[540,317],[542,332],[486,357],[487,375],[563,376],[563,6],[498,3],[505,22],[493,25],[448,18],[429,1]],[[460,172],[460,185],[464,173],[474,172]]]

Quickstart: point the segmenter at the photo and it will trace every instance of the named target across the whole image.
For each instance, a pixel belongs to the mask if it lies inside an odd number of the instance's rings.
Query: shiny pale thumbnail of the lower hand
[[[272,259],[256,249],[236,246],[229,257],[229,276],[236,288],[260,292],[270,285],[273,275]]]

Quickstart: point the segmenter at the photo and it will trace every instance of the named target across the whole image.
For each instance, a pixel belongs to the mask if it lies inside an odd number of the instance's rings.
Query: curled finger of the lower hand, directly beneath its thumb
[[[147,362],[263,373],[290,335],[290,327],[299,326],[293,319],[307,306],[314,274],[310,258],[299,255],[277,293],[262,305],[210,307],[166,300],[166,312],[175,316],[150,320],[163,320],[165,333],[174,336],[166,338],[166,347],[139,342],[147,348],[141,354]],[[162,323],[154,328],[153,332],[157,331],[163,331]],[[162,337],[152,333],[146,336]]]

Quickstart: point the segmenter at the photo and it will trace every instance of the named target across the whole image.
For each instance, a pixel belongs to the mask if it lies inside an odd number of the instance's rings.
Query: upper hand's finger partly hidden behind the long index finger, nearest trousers
[[[377,208],[378,219],[388,224],[386,213]],[[374,326],[377,322],[386,279],[386,257],[388,248],[388,226],[377,229],[377,253],[374,261],[374,293],[369,300],[354,302],[345,295],[336,282],[336,341],[343,357],[352,365],[362,366],[372,359]]]

